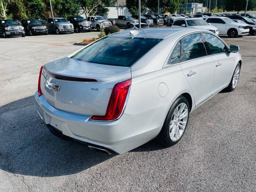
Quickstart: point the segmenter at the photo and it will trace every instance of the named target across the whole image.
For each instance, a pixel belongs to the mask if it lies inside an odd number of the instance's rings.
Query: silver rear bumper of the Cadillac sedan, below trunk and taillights
[[[35,93],[37,112],[45,124],[61,134],[81,142],[124,153],[154,139],[160,132],[169,106],[136,115],[123,116],[117,121],[89,121],[91,116],[62,111],[52,107]]]

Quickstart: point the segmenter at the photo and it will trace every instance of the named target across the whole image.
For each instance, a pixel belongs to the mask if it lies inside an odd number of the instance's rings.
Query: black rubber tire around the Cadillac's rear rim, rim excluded
[[[180,136],[180,138],[176,141],[172,141],[171,138],[170,138],[170,123],[171,123],[171,118],[173,116],[173,113],[174,113],[174,110],[181,104],[181,103],[185,103],[187,105],[187,108],[188,108],[188,117],[187,117],[187,124],[184,128],[184,131],[182,132],[182,135]],[[179,140],[182,138],[182,136],[184,135],[184,132],[187,128],[187,125],[188,125],[188,119],[189,119],[189,103],[188,103],[188,100],[186,97],[184,96],[180,96],[178,97],[174,103],[172,104],[172,107],[170,108],[169,112],[167,113],[167,116],[164,120],[164,125],[160,131],[160,133],[158,134],[158,136],[156,137],[156,140],[165,145],[165,146],[172,146],[172,145],[175,145],[176,143],[179,142]],[[182,120],[182,119],[181,119]]]

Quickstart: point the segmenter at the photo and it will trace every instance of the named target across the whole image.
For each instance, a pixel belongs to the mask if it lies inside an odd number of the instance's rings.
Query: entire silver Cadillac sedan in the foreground
[[[192,111],[236,88],[238,51],[204,29],[118,32],[42,66],[37,112],[58,137],[108,154],[172,146]]]

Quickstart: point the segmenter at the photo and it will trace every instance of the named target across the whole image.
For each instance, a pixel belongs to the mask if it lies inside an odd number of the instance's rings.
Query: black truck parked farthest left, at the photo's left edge
[[[0,20],[0,34],[4,38],[12,36],[25,37],[25,30],[16,20]]]

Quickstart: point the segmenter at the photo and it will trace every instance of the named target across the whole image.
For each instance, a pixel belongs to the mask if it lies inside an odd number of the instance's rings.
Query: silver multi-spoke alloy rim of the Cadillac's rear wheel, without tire
[[[169,135],[172,141],[180,139],[186,128],[187,121],[188,106],[186,103],[180,103],[180,105],[175,108],[170,122]]]

